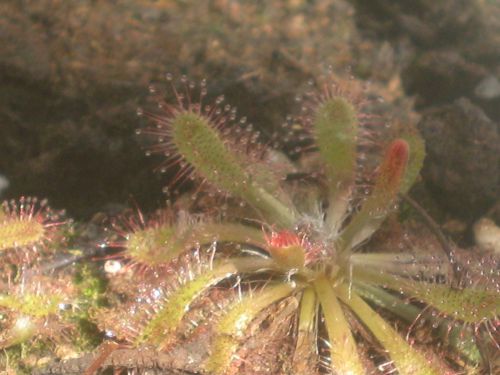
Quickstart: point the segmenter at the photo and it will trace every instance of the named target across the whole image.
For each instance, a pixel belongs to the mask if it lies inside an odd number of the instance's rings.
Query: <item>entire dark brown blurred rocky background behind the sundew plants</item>
[[[3,0],[0,45],[1,198],[46,197],[77,219],[158,207],[168,176],[134,134],[151,82],[207,78],[265,137],[331,65],[418,122],[412,194],[441,222],[496,215],[498,1]]]

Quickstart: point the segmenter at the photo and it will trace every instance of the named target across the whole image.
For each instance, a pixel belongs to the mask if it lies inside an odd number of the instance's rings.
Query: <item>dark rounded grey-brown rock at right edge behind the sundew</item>
[[[497,124],[468,99],[459,99],[425,112],[418,127],[426,140],[426,184],[444,208],[474,221],[500,193]]]

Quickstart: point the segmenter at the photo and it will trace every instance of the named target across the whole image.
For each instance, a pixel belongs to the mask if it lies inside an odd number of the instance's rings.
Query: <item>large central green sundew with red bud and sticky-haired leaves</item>
[[[198,99],[182,81],[182,91],[171,84],[175,102],[155,95],[158,108],[141,110],[153,122],[142,133],[157,137],[152,152],[177,168],[176,183],[197,191],[115,223],[110,244],[130,266],[111,284],[130,301],[96,311],[100,327],[164,352],[187,345],[206,374],[460,374],[484,347],[498,350],[494,260],[467,268],[453,254],[371,245],[418,177],[415,130],[377,143],[363,91],[326,83],[302,101],[292,161],[221,98],[205,105],[204,81]],[[398,329],[420,320],[461,360]]]

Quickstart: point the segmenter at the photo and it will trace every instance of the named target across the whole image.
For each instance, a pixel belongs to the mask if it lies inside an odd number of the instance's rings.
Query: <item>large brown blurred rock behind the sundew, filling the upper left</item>
[[[320,63],[354,61],[352,14],[346,0],[307,12],[284,0],[0,2],[2,198],[48,198],[76,219],[130,197],[157,207],[169,176],[134,137],[149,83],[207,78],[206,104],[224,94],[270,137]]]

